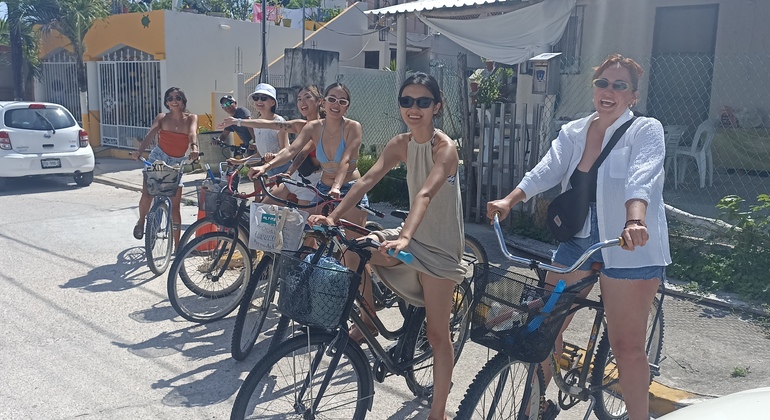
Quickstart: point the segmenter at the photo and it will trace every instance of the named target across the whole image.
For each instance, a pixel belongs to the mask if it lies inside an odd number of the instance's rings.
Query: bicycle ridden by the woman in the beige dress
[[[363,419],[372,407],[374,380],[383,382],[389,375],[403,376],[415,396],[432,395],[432,382],[422,383],[415,375],[420,369],[417,366],[433,357],[430,346],[419,342],[424,336],[425,309],[410,306],[403,324],[390,331],[364,304],[359,292],[361,274],[371,256],[369,248],[377,248],[379,243],[371,238],[348,240],[339,226],[314,229],[329,239],[336,237],[348,251],[355,252],[360,257],[359,266],[351,272],[320,264],[319,255],[328,255],[324,245],[310,262],[281,256],[279,311],[307,328],[257,362],[238,391],[231,419],[243,419],[247,414],[249,418],[316,418],[327,412],[339,418]],[[333,242],[328,243],[334,247]],[[408,261],[404,254],[399,258]],[[395,345],[382,347],[362,320],[361,310]],[[361,345],[349,339],[348,320],[363,334],[374,356],[373,366]]]

